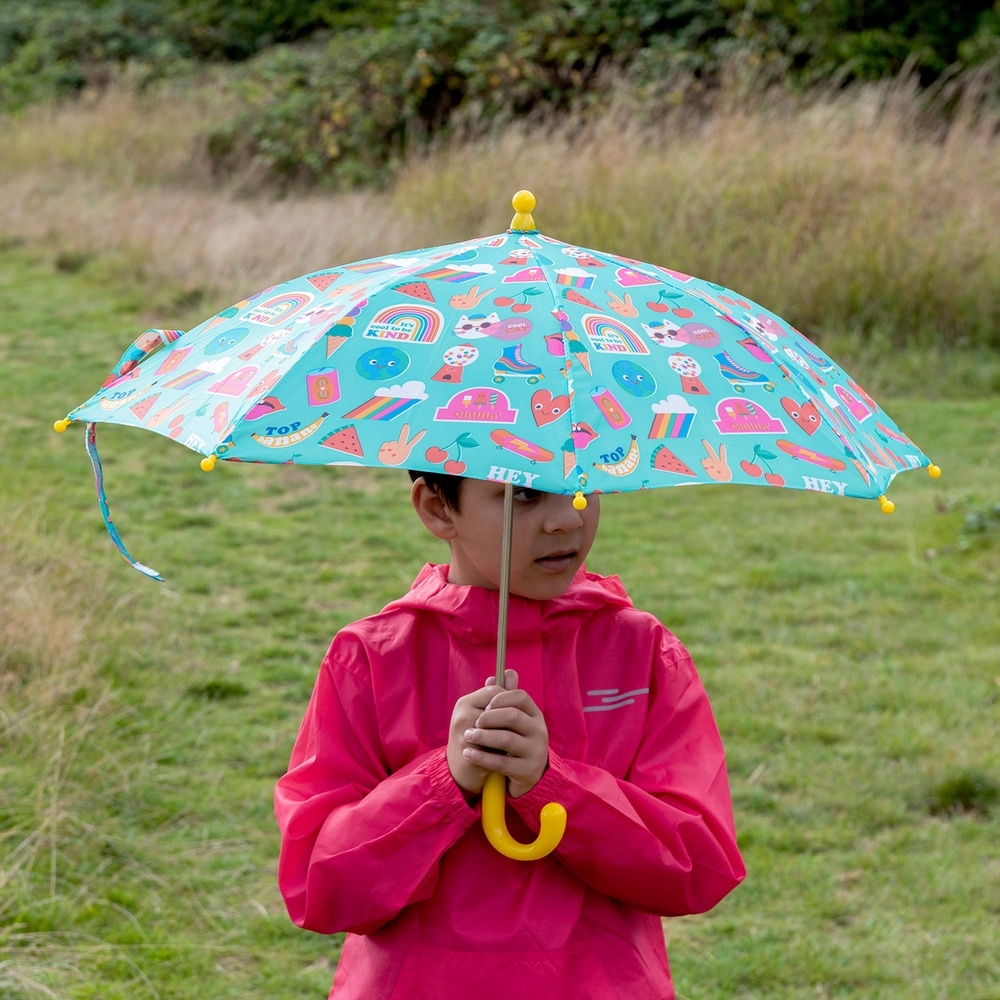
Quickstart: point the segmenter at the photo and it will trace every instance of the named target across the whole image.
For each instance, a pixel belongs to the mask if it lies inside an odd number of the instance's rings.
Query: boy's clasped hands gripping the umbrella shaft
[[[549,731],[541,710],[517,687],[517,671],[508,670],[506,690],[497,690],[474,727],[465,730],[463,756],[485,771],[505,774],[511,798],[538,784],[549,766]],[[488,747],[502,753],[480,749]]]

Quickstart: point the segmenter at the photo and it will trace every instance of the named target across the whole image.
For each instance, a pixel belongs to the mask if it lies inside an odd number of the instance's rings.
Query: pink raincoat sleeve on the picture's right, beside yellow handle
[[[556,852],[577,878],[622,903],[679,916],[711,909],[746,869],[708,696],[665,629],[658,654],[625,778],[550,751],[542,779],[510,803],[534,830],[546,802],[562,803],[568,822]]]

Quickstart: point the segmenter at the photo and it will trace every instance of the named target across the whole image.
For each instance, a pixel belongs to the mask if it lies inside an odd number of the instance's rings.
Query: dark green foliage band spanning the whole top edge
[[[929,84],[1000,55],[989,0],[15,0],[0,7],[0,108],[128,68],[143,81],[252,60],[244,113],[209,139],[220,175],[377,183],[450,125],[742,86]]]

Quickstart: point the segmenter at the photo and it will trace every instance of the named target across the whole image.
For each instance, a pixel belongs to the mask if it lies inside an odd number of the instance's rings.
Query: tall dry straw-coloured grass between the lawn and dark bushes
[[[415,155],[386,192],[284,198],[252,168],[213,179],[205,136],[226,113],[204,89],[118,91],[5,122],[0,233],[123,252],[228,304],[497,232],[528,187],[544,232],[711,278],[813,335],[997,343],[1000,140],[974,115],[929,121],[906,80],[641,124],[622,104]]]

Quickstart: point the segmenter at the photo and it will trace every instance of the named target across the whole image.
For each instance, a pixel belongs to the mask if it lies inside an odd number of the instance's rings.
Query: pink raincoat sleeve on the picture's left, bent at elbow
[[[426,899],[441,856],[478,820],[445,747],[389,774],[359,640],[334,640],[275,791],[278,884],[289,916],[368,934]]]

